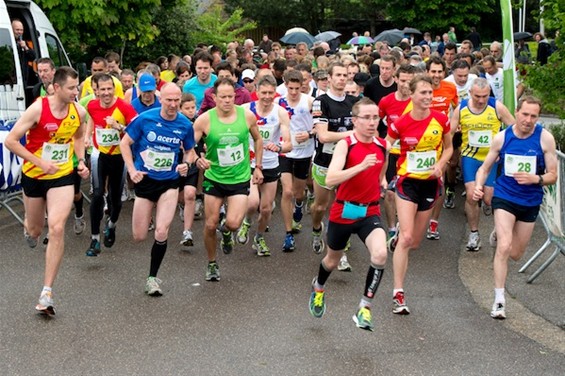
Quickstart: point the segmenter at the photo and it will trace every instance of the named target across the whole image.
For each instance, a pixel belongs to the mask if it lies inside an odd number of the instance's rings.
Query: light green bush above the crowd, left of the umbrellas
[[[245,32],[254,30],[257,24],[243,19],[243,10],[236,8],[226,16],[220,6],[214,6],[198,20],[193,39],[198,43],[224,46],[228,42],[244,38]]]

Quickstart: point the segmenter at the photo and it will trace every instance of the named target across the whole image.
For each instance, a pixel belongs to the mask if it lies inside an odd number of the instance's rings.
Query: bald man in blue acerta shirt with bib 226
[[[132,233],[135,241],[147,238],[151,212],[156,206],[155,241],[151,247],[145,293],[162,295],[157,273],[167,251],[169,227],[175,216],[180,175],[186,176],[194,147],[192,123],[179,112],[181,91],[173,83],[161,89],[161,108],[145,111],[126,128],[120,149],[131,180],[135,183]],[[177,155],[181,146],[181,163]]]

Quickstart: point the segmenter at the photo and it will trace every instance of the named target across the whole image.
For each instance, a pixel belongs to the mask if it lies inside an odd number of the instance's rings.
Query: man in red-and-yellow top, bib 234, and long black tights
[[[127,125],[137,116],[132,105],[115,96],[112,76],[98,75],[97,98],[87,105],[87,139],[92,137],[96,153],[92,153],[92,202],[90,203],[91,242],[86,255],[96,257],[100,253],[100,221],[104,216],[104,194],[108,188],[110,215],[104,228],[104,246],[111,248],[116,241],[116,222],[122,210],[122,191],[125,181],[124,160],[120,140]]]

